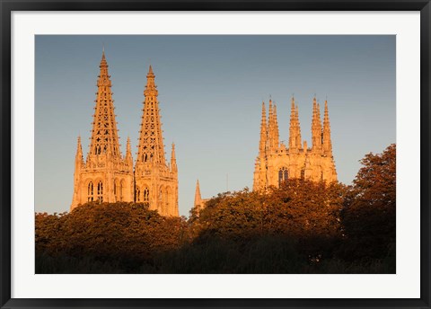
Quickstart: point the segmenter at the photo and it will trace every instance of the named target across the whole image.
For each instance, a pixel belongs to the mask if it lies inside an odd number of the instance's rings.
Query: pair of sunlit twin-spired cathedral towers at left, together
[[[81,204],[97,202],[145,202],[162,216],[178,216],[178,168],[175,146],[171,163],[164,156],[162,122],[153,68],[146,75],[145,101],[139,145],[134,166],[130,139],[126,155],[119,149],[111,81],[105,53],[101,56],[97,81],[90,149],[84,160],[81,137],[75,155],[73,210]]]

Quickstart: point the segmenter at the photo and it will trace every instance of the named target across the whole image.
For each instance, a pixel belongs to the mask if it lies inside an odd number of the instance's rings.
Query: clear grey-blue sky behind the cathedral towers
[[[102,45],[121,150],[129,136],[134,159],[145,76],[154,68],[168,160],[176,144],[180,215],[189,215],[197,179],[203,198],[227,185],[252,188],[261,102],[268,108],[269,96],[287,141],[295,93],[309,145],[312,97],[328,98],[335,163],[346,184],[365,154],[396,141],[395,36],[39,35],[35,42],[37,212],[70,207],[76,138],[85,157]]]

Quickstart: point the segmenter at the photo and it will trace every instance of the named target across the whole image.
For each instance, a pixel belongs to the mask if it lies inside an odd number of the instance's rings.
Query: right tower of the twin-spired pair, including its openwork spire
[[[164,157],[162,122],[153,68],[146,75],[145,102],[135,164],[135,200],[148,202],[162,216],[178,216],[178,169],[175,145],[171,164]]]

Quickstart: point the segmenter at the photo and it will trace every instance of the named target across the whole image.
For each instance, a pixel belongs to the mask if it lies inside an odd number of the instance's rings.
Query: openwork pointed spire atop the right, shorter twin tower
[[[150,66],[146,75],[145,102],[136,163],[166,163],[163,150],[162,122],[160,121],[159,102],[157,101],[158,92],[154,77],[153,68]]]

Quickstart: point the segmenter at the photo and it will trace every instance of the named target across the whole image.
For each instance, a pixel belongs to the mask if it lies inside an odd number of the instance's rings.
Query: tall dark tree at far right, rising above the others
[[[345,258],[384,258],[394,249],[396,146],[366,154],[343,211]]]

